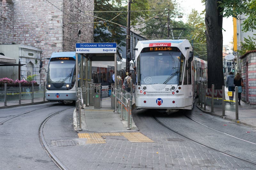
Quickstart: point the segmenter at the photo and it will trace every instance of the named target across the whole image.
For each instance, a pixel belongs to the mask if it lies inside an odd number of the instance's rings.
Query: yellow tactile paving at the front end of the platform
[[[120,132],[120,133],[78,133],[79,138],[86,138],[87,144],[104,144],[104,140],[101,136],[124,136],[130,142],[154,142],[147,136],[140,132]]]

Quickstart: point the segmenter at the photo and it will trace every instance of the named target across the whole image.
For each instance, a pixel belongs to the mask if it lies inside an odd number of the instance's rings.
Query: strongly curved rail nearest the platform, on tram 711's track
[[[60,111],[57,111],[53,114],[51,114],[50,116],[46,117],[44,119],[44,121],[40,124],[39,126],[39,129],[38,129],[38,137],[39,137],[39,141],[42,145],[42,147],[44,148],[44,151],[47,153],[47,155],[52,159],[52,161],[60,168],[60,169],[68,169],[64,164],[62,164],[62,162],[54,155],[54,153],[51,151],[51,149],[49,148],[49,146],[47,145],[47,142],[45,141],[44,139],[44,134],[43,134],[43,128],[44,128],[44,125],[45,123],[51,118],[53,117],[54,115],[57,115],[65,110],[68,110],[68,109],[72,109],[74,107],[70,107],[70,108],[67,108],[67,109],[63,109],[63,110],[60,110]]]

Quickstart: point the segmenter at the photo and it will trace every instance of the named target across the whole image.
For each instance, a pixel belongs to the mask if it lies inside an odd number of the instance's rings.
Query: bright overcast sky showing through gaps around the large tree
[[[174,0],[175,1],[175,0]],[[196,9],[199,13],[205,9],[205,6],[203,3],[201,3],[202,0],[180,0],[176,2],[180,3],[180,6],[184,9],[183,18],[182,20],[184,22],[187,21],[187,16],[189,13],[191,13],[192,9]],[[222,31],[223,33],[223,45],[229,45],[229,42],[233,41],[233,21],[232,17],[230,18],[223,18],[223,29],[226,30]]]

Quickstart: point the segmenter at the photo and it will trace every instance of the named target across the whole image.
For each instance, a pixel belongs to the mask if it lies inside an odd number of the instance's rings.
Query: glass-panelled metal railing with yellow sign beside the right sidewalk
[[[211,106],[211,112],[214,112],[214,108],[220,108],[222,110],[221,116],[225,115],[226,107],[229,107],[229,111],[235,112],[235,120],[239,120],[238,117],[238,87],[235,87],[235,92],[227,93],[230,97],[229,100],[226,99],[225,86],[222,86],[222,90],[215,90],[214,84],[212,84],[211,89],[207,89],[207,84],[205,82],[198,83],[198,105],[203,110],[206,110],[206,106]],[[214,94],[219,94],[221,96],[216,96]],[[222,93],[222,94],[221,94]],[[235,99],[235,100],[234,100]],[[235,109],[234,109],[235,104]]]

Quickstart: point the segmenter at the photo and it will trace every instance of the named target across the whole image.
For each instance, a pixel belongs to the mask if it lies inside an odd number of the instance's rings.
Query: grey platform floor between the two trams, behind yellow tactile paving
[[[131,130],[127,130],[127,120],[120,120],[121,114],[115,113],[114,108],[111,108],[111,98],[102,98],[102,108],[94,109],[94,106],[81,109],[81,133],[90,132],[134,132],[138,128],[132,120]],[[76,109],[73,113],[74,129],[77,130]]]

